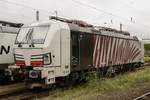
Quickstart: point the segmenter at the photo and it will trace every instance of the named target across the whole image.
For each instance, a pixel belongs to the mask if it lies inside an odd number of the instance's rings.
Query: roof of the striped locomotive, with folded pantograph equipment
[[[51,23],[53,21],[58,21],[58,23],[64,22],[64,23],[68,24],[71,31],[80,31],[80,32],[83,32],[83,33],[101,34],[101,35],[107,35],[107,36],[112,36],[112,37],[117,37],[117,38],[138,40],[137,37],[130,36],[129,32],[118,31],[116,29],[112,29],[112,28],[108,28],[108,27],[93,26],[93,25],[90,25],[90,24],[88,24],[84,21],[68,20],[68,19],[63,19],[63,18],[58,18],[58,17],[52,17],[52,18],[50,18],[49,21],[35,22],[33,24],[25,25],[23,27],[51,25]]]

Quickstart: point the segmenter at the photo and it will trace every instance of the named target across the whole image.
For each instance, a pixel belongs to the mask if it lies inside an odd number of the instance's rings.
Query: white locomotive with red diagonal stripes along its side
[[[91,70],[106,71],[110,66],[141,66],[144,48],[142,42],[128,32],[51,17],[49,21],[20,29],[14,58],[15,66],[20,68],[18,73],[34,87],[61,82],[66,77],[76,80],[81,73],[86,76]]]

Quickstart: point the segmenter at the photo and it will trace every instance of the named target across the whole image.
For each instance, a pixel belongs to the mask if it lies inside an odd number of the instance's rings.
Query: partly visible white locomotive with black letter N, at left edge
[[[14,64],[13,45],[21,23],[0,21],[0,81],[5,79],[5,69]]]

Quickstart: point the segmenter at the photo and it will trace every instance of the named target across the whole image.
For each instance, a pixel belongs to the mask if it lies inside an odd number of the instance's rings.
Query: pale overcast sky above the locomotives
[[[149,0],[0,0],[0,20],[30,23],[36,10],[40,20],[58,16],[123,30],[148,38],[150,35]],[[132,21],[131,21],[132,18]]]

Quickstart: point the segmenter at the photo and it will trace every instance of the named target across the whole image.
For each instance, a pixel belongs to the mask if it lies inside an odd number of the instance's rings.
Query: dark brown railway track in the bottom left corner
[[[9,86],[5,91],[0,92],[0,100],[40,100],[39,98],[49,96],[49,90],[29,90],[26,89],[27,87],[25,86],[11,86],[11,89]],[[12,89],[16,88],[16,89]],[[5,88],[5,87],[4,87]]]

